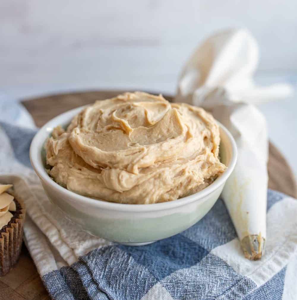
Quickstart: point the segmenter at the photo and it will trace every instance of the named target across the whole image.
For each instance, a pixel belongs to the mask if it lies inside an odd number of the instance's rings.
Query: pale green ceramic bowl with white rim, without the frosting
[[[35,135],[30,147],[31,164],[44,191],[65,217],[92,235],[123,244],[142,245],[184,231],[212,208],[237,159],[234,139],[221,124],[220,155],[228,168],[212,184],[191,196],[155,204],[120,204],[81,196],[54,182],[45,171],[44,142],[56,126],[66,128],[83,108],[70,110],[47,122]]]

